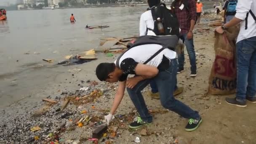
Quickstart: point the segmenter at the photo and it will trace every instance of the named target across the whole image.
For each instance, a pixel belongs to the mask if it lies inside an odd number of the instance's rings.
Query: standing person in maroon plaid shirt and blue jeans
[[[190,60],[190,76],[197,75],[196,56],[193,40],[193,29],[197,19],[196,5],[194,0],[174,0],[171,4],[171,10],[176,14],[179,20],[179,27],[181,28],[181,36],[184,37],[187,53]],[[184,52],[178,54],[179,69],[178,74],[184,70]]]

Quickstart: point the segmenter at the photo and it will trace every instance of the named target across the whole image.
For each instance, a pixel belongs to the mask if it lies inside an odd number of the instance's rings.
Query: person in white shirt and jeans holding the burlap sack
[[[237,36],[237,83],[236,97],[226,98],[226,102],[238,107],[246,107],[246,100],[256,103],[256,1],[238,0],[236,14],[228,23],[216,28],[224,33],[229,27],[240,24]]]

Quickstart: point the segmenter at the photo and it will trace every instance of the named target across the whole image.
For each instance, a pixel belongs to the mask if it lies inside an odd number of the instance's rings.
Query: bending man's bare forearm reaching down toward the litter
[[[120,102],[123,99],[123,95],[125,92],[125,83],[126,83],[126,81],[123,81],[123,82],[119,82],[119,84],[118,84],[117,92],[115,94],[114,102],[112,104],[112,108],[110,111],[111,115],[115,114],[115,111],[117,110],[118,106],[120,105]]]

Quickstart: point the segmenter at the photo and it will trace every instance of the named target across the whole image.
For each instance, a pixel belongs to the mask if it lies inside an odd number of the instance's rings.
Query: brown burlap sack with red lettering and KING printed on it
[[[209,77],[208,94],[228,95],[236,90],[235,39],[239,27],[232,27],[224,34],[215,32],[215,61]]]

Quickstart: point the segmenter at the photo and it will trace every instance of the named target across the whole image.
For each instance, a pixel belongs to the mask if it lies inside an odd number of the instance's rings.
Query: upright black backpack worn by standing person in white
[[[151,9],[152,17],[154,20],[154,29],[152,30],[156,35],[177,35],[179,36],[179,21],[177,16],[172,13],[168,8],[166,8],[165,3],[160,3]],[[164,33],[161,34],[157,28],[157,18],[162,20],[164,27]]]

